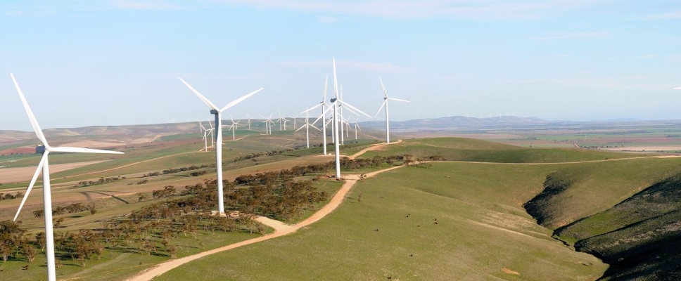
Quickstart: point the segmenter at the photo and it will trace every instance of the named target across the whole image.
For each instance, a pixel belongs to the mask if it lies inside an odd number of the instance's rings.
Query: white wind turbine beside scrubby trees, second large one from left
[[[248,93],[246,96],[242,96],[241,98],[237,98],[236,100],[233,100],[231,103],[227,103],[227,105],[224,105],[222,108],[218,108],[214,104],[208,100],[208,98],[205,98],[205,96],[201,95],[196,89],[194,89],[191,85],[189,85],[186,81],[184,81],[182,78],[179,79],[184,83],[184,85],[189,88],[198,98],[201,98],[203,100],[203,103],[208,105],[211,110],[210,114],[215,115],[215,129],[217,129],[217,135],[215,136],[215,143],[217,144],[217,148],[215,149],[215,164],[217,168],[217,209],[219,211],[219,214],[224,214],[224,197],[222,193],[222,112],[224,110],[227,110],[229,107],[233,107],[237,103],[241,103],[241,101],[246,100],[246,98],[255,95],[255,93],[262,91],[263,88],[257,89],[253,92]]]

